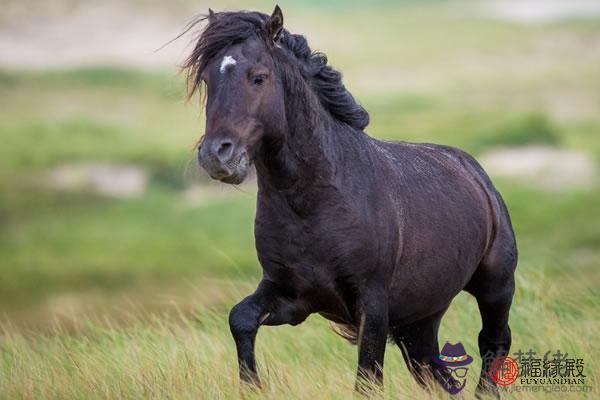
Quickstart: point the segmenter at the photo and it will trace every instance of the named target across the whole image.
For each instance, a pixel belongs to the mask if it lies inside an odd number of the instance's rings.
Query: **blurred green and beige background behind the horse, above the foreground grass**
[[[597,319],[581,310],[600,310],[600,2],[279,4],[343,71],[369,134],[474,154],[512,214],[521,285],[549,282],[556,312]],[[208,7],[273,6],[2,2],[3,324],[225,313],[252,290],[255,182],[198,169],[204,118],[178,74],[190,36],[157,49]]]

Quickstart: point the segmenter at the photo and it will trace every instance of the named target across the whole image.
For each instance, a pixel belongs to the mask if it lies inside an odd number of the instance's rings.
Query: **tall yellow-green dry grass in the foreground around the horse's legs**
[[[592,392],[562,393],[564,398],[594,398],[598,387],[594,293],[570,303],[561,282],[545,280],[522,266],[512,310],[513,351],[560,349],[583,357]],[[564,282],[563,282],[564,283]],[[244,288],[243,290],[247,290]],[[241,293],[240,293],[241,295]],[[557,302],[561,307],[557,308]],[[579,310],[573,314],[564,307]],[[239,398],[235,348],[226,310],[198,310],[194,317],[133,316],[126,326],[111,320],[80,320],[69,331],[23,333],[4,327],[1,336],[0,394],[4,398]],[[476,337],[480,322],[473,298],[459,295],[446,315],[440,342],[462,341],[475,361],[465,398],[474,396],[480,367]],[[337,337],[321,317],[298,327],[263,327],[257,339],[265,388],[247,398],[347,399],[353,396],[356,347]],[[505,398],[540,398],[544,393],[512,393]],[[428,392],[410,377],[399,349],[389,344],[384,398],[450,398]]]

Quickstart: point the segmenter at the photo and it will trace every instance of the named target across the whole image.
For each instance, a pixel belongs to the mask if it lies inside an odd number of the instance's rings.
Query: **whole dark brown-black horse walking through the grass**
[[[452,379],[432,360],[452,299],[477,300],[482,357],[510,349],[517,248],[506,205],[457,148],[376,140],[327,56],[271,15],[213,12],[182,68],[205,90],[199,165],[240,184],[255,166],[262,279],[229,313],[241,381],[260,387],[260,326],[318,313],[358,344],[355,387],[382,385],[388,339],[418,383]],[[191,26],[188,28],[191,29]],[[484,362],[477,393],[498,395]],[[446,381],[447,382],[447,381]]]

